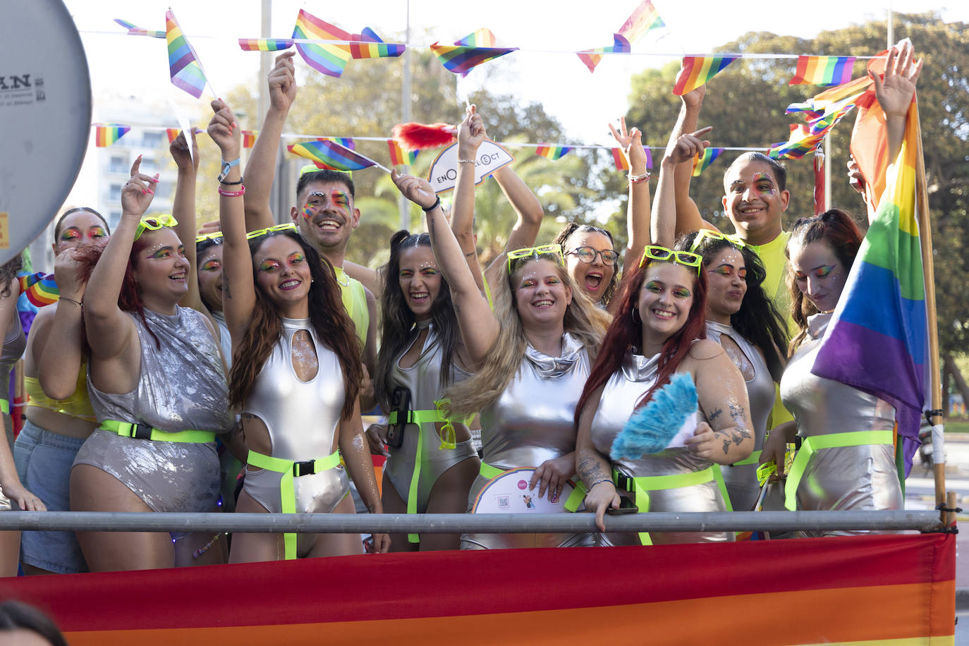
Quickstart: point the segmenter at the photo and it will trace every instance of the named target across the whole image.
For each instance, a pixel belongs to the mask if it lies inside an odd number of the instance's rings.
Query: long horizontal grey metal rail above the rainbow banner
[[[938,512],[717,511],[606,516],[610,532],[899,531],[942,528]],[[151,513],[5,511],[0,530],[84,532],[248,532],[500,534],[595,532],[591,513]]]

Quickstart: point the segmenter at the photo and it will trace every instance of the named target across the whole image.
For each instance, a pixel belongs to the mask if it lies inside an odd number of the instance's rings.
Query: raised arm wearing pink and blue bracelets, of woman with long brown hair
[[[208,122],[208,136],[222,151],[222,159],[235,159],[239,152],[240,131],[232,110],[221,100],[212,102],[214,114]],[[233,352],[245,336],[256,306],[256,288],[252,277],[252,255],[246,240],[245,213],[241,196],[231,194],[242,189],[234,184],[242,177],[236,166],[219,184],[219,222],[222,225],[222,312],[233,337]],[[248,192],[248,191],[247,191]]]

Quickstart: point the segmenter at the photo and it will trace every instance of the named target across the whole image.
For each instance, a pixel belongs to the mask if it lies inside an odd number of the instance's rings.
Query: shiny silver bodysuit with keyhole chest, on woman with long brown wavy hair
[[[266,424],[272,457],[301,462],[327,457],[336,450],[337,429],[346,398],[343,369],[320,343],[309,319],[282,319],[283,332],[256,378],[242,412]],[[302,382],[293,368],[293,336],[306,330],[316,348],[316,376]],[[243,490],[270,512],[282,510],[279,483],[283,475],[267,469],[245,472]],[[297,513],[328,513],[350,490],[342,466],[296,477]],[[300,534],[297,553],[305,554],[315,536]]]

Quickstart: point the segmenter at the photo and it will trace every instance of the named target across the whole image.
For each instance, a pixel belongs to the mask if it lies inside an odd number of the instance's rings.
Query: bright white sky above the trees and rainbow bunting
[[[523,50],[485,64],[490,75],[477,69],[462,83],[473,89],[486,80],[489,89],[512,93],[524,101],[542,102],[560,119],[572,143],[610,142],[606,123],[627,107],[629,77],[684,53],[703,53],[713,46],[735,40],[749,31],[813,37],[824,29],[836,29],[866,19],[884,19],[889,5],[895,12],[938,11],[944,19],[969,22],[969,3],[953,2],[946,8],[924,0],[818,0],[797,2],[729,3],[713,0],[654,0],[670,35],[656,42],[650,34],[634,44],[635,55],[610,56],[589,74],[574,52],[611,45],[611,35],[637,7],[640,0],[363,0],[361,2],[272,2],[271,37],[285,38],[293,32],[300,8],[347,31],[364,26],[385,40],[402,38],[408,12],[413,46],[434,41],[451,43],[487,27],[499,46]],[[66,0],[81,33],[91,72],[95,97],[94,118],[99,118],[99,96],[133,95],[141,104],[165,105],[169,96],[183,106],[203,105],[188,94],[174,90],[169,82],[165,42],[127,36],[112,22],[123,18],[147,29],[165,28],[165,11],[172,7],[182,30],[195,46],[215,90],[226,94],[239,82],[256,82],[259,54],[241,51],[237,38],[260,34],[260,0],[233,3],[171,0]],[[426,31],[425,31],[426,30]],[[918,48],[919,44],[915,44]],[[641,55],[665,53],[667,56]],[[850,54],[848,51],[778,52]],[[385,61],[351,61],[350,65],[385,65]],[[792,65],[792,72],[794,66]],[[928,71],[931,73],[931,71]],[[317,74],[308,68],[303,74]],[[489,76],[489,77],[488,77]],[[488,78],[485,78],[488,77]],[[455,77],[456,78],[456,77]],[[264,82],[259,79],[258,82]],[[462,85],[462,89],[463,85]],[[193,104],[195,102],[195,104]],[[372,109],[374,107],[360,107]],[[399,110],[399,106],[384,109]],[[458,118],[458,107],[445,107],[442,120]],[[172,119],[172,126],[174,126]],[[648,124],[645,131],[649,133]],[[665,124],[663,127],[668,127]],[[294,127],[288,128],[294,131]],[[386,136],[389,133],[332,133],[346,136]],[[751,142],[752,144],[764,143]]]

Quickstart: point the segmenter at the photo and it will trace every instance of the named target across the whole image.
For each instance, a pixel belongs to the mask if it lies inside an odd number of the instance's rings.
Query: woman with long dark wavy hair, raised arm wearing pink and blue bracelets
[[[238,161],[240,132],[228,106],[214,101],[212,109],[208,135],[230,162],[219,176],[222,311],[234,355],[229,401],[241,409],[249,446],[235,510],[353,513],[342,454],[367,508],[379,513],[383,508],[359,416],[359,339],[340,300],[336,273],[293,224],[246,234],[245,189],[232,164]],[[338,508],[341,504],[344,508]],[[340,538],[236,534],[230,559],[332,556],[346,553]],[[389,547],[388,535],[374,535],[375,551]],[[359,543],[355,551],[362,553]]]

